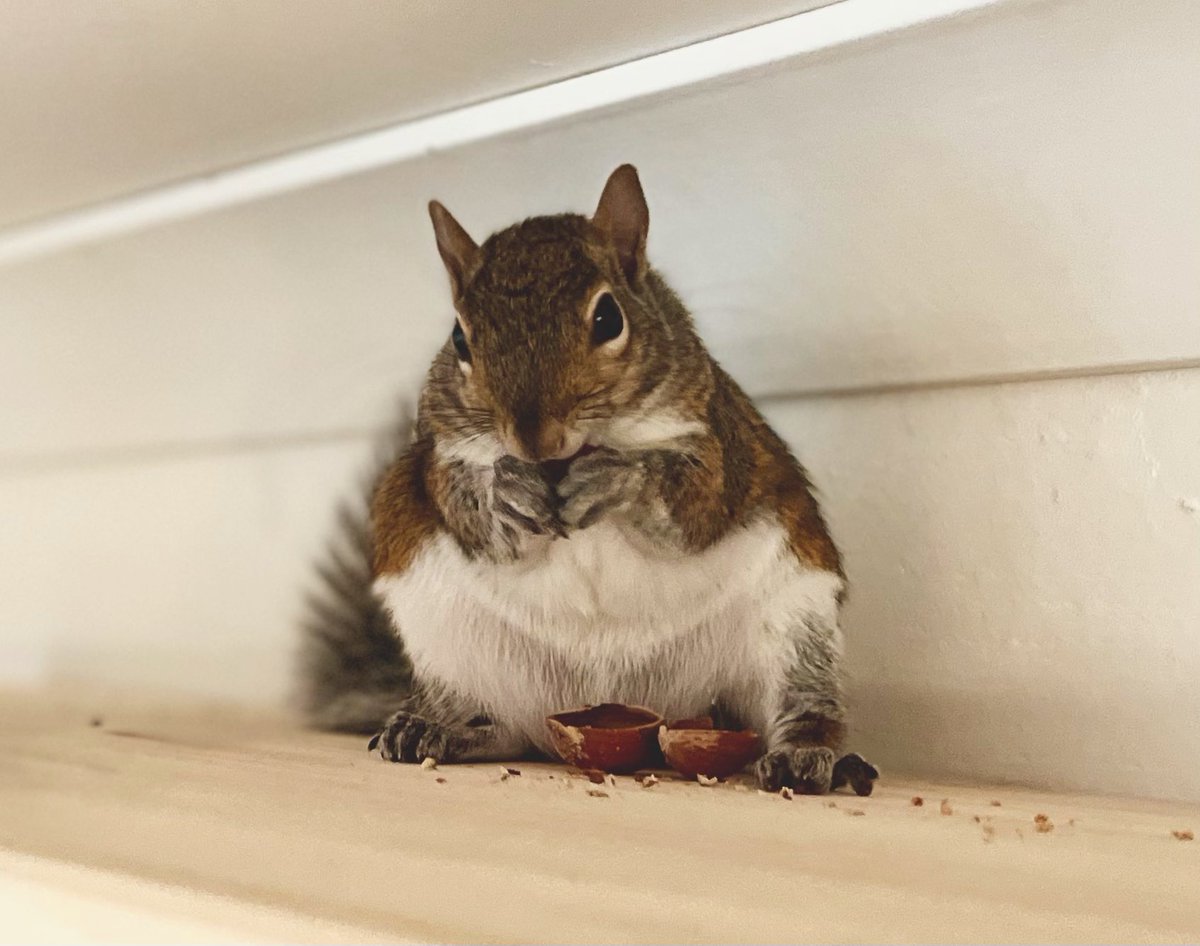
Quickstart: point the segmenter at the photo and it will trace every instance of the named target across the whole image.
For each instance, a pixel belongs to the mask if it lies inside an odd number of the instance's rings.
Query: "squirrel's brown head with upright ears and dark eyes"
[[[631,418],[698,346],[647,265],[634,167],[612,173],[590,218],[533,217],[482,246],[437,200],[430,216],[457,312],[431,376],[439,426],[473,453],[533,461],[624,445]]]

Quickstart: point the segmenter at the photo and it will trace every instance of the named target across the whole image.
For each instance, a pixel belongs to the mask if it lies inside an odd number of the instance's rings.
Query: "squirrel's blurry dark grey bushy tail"
[[[406,418],[384,462],[407,445],[410,431]],[[298,702],[317,729],[376,732],[412,689],[412,664],[372,589],[370,497],[376,479],[338,507],[335,534],[306,599]]]

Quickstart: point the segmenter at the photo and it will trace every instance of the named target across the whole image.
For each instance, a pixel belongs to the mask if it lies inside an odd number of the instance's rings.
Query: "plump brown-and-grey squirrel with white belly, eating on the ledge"
[[[647,262],[636,169],[476,244],[428,205],[452,331],[370,528],[323,568],[307,708],[396,762],[551,754],[599,702],[756,730],[767,791],[866,794],[841,557],[805,469]],[[370,563],[367,562],[370,556]]]

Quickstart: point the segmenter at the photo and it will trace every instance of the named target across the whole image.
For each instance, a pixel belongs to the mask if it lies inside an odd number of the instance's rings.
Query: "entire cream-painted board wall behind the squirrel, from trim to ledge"
[[[1198,37],[1006,0],[0,269],[4,670],[280,696],[334,498],[449,325],[425,200],[482,237],[628,160],[822,489],[856,743],[1200,800]]]

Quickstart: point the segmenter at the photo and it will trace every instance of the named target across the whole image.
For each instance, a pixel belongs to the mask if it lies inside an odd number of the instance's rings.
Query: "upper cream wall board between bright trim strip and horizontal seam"
[[[756,394],[1195,364],[1198,32],[1002,5],[2,269],[4,459],[378,425],[449,321],[425,202],[482,237],[624,160]]]

